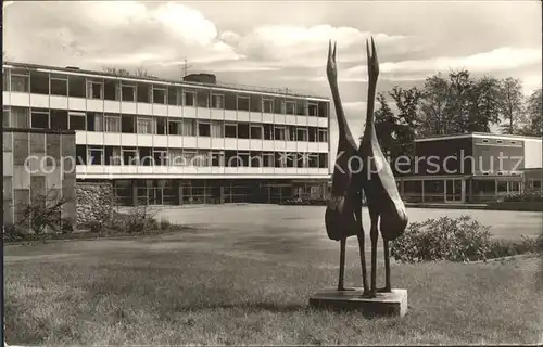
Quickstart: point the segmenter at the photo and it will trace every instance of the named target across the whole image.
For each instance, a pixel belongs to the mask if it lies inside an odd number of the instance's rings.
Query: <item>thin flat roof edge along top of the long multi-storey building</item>
[[[203,89],[213,89],[213,90],[224,90],[224,91],[243,91],[250,94],[262,94],[262,95],[270,95],[270,97],[282,97],[282,98],[292,98],[292,99],[308,99],[314,101],[324,101],[330,102],[330,98],[321,97],[321,95],[307,95],[295,93],[290,89],[280,89],[280,88],[268,88],[268,87],[257,87],[257,86],[244,86],[244,85],[233,85],[233,83],[202,83],[194,81],[179,81],[174,79],[159,78],[153,76],[138,77],[138,76],[117,76],[115,74],[109,74],[104,72],[96,72],[89,69],[83,69],[78,67],[61,67],[61,66],[51,66],[51,65],[39,65],[39,64],[30,64],[30,63],[20,63],[20,62],[3,62],[3,68],[25,68],[25,69],[34,69],[38,72],[45,73],[60,73],[65,75],[75,75],[75,76],[86,76],[86,77],[102,77],[109,79],[117,79],[117,80],[127,80],[132,82],[153,82],[159,85],[169,85],[169,86],[179,86],[179,87],[193,87],[193,88],[203,88]]]

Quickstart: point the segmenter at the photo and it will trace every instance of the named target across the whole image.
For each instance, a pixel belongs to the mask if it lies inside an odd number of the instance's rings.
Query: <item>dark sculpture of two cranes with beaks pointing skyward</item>
[[[330,203],[325,213],[325,224],[328,237],[340,241],[340,275],[338,291],[345,291],[343,285],[345,265],[345,243],[349,236],[358,237],[362,262],[363,296],[376,297],[378,292],[391,292],[389,242],[399,237],[407,227],[405,206],[399,194],[396,182],[390,165],[382,154],[375,130],[375,97],[379,62],[374,38],[371,50],[366,41],[368,64],[368,98],[366,128],[356,149],[355,141],[345,120],[339,88],[337,83],[336,44],[328,48],[327,76],[332,92],[333,104],[339,127],[338,157],[332,174],[332,192]],[[371,282],[367,285],[365,234],[362,224],[362,196],[366,202],[371,221]],[[386,284],[376,288],[377,244],[379,230],[383,239]]]

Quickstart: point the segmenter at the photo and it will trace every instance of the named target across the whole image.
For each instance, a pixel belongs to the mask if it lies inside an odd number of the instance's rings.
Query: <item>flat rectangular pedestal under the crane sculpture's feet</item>
[[[364,316],[404,317],[407,313],[407,290],[377,293],[377,297],[362,297],[363,288],[354,291],[325,290],[310,298],[310,306],[340,310],[359,310]]]

